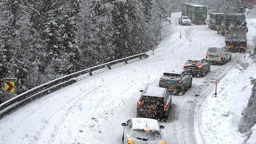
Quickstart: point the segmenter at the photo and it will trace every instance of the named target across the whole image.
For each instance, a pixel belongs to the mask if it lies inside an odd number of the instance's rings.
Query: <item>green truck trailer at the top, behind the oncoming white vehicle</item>
[[[181,15],[186,15],[194,24],[206,24],[207,6],[185,3],[182,5]]]

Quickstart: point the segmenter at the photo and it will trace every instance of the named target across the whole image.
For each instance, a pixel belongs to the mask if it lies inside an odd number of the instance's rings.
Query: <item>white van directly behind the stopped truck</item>
[[[231,52],[226,46],[209,47],[206,53],[206,60],[212,64],[223,64],[231,60]]]

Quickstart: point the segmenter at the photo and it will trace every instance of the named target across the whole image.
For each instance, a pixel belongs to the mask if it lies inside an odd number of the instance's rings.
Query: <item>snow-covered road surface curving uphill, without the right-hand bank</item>
[[[54,91],[0,120],[1,144],[121,144],[121,123],[136,116],[139,90],[158,86],[165,71],[183,68],[187,59],[205,58],[207,48],[224,45],[224,37],[208,25],[176,26],[173,13],[155,55],[111,70],[81,76],[73,85]],[[180,38],[181,32],[181,38]],[[151,51],[148,52],[151,54]],[[241,54],[232,55],[233,59]],[[166,144],[196,144],[194,110],[200,93],[230,70],[234,60],[211,66],[184,95],[174,96],[169,119],[161,122]],[[80,132],[82,130],[82,132]]]

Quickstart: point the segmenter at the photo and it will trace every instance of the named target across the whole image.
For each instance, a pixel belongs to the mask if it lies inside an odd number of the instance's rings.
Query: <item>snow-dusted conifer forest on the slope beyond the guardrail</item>
[[[220,9],[220,1],[0,0],[0,103],[63,75],[148,51],[161,40],[170,10],[184,2]],[[17,78],[15,95],[4,93],[3,78]]]

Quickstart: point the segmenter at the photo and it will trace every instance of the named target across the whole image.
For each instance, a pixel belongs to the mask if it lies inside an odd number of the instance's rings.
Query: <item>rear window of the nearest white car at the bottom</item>
[[[132,131],[132,138],[142,141],[160,140],[161,133],[160,131],[144,131],[143,129],[134,129]]]

